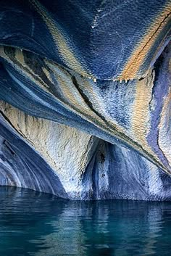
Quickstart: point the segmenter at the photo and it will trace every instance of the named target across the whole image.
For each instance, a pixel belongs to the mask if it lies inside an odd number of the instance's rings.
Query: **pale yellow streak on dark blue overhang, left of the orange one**
[[[65,64],[70,67],[71,70],[75,70],[80,75],[90,77],[90,73],[87,73],[87,71],[80,65],[78,59],[75,57],[75,54],[67,45],[67,42],[62,35],[62,31],[60,31],[57,27],[57,23],[51,17],[49,17],[46,9],[36,0],[30,0],[30,3],[33,4],[37,12],[43,18],[44,22],[46,22],[46,25],[49,28],[51,36],[54,40],[54,44],[56,44],[59,54],[62,56]]]

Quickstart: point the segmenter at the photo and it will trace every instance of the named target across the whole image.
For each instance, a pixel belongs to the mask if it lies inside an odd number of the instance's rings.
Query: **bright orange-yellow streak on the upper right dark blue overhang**
[[[141,40],[141,43],[138,44],[138,47],[135,49],[135,51],[133,51],[133,54],[131,54],[130,59],[128,59],[128,62],[124,67],[124,70],[122,71],[121,75],[117,77],[117,80],[119,79],[129,80],[129,79],[137,78],[138,71],[141,65],[143,64],[143,62],[145,61],[146,55],[148,54],[151,46],[153,46],[153,44],[157,40],[157,37],[159,36],[159,33],[162,31],[164,26],[170,20],[170,17],[171,17],[170,12],[171,12],[171,6],[167,5],[163,9],[162,13],[159,13],[159,16],[147,31],[146,36],[143,37],[143,39]],[[164,38],[163,38],[163,41],[164,41]],[[149,71],[147,71],[147,73],[148,72]]]

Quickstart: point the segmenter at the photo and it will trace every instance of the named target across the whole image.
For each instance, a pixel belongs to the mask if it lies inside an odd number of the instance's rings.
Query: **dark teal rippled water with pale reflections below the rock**
[[[72,202],[0,188],[0,255],[171,255],[171,202]]]

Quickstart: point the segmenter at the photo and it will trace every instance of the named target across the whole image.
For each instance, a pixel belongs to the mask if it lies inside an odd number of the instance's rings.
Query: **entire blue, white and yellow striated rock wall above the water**
[[[163,0],[2,1],[0,185],[171,199],[170,12]]]

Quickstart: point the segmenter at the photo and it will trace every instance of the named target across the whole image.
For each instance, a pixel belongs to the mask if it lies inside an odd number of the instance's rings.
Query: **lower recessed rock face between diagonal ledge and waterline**
[[[170,176],[132,149],[31,117],[4,102],[0,136],[0,185],[70,199],[171,198]]]

